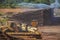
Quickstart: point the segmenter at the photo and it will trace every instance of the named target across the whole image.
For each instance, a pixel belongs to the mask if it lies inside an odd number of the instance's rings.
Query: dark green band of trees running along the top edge
[[[50,4],[55,0],[0,0],[0,8],[15,8],[18,3],[27,2],[27,3],[44,3]],[[58,0],[60,2],[60,0]]]

